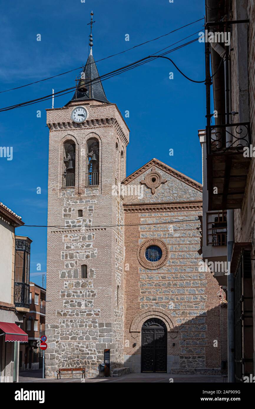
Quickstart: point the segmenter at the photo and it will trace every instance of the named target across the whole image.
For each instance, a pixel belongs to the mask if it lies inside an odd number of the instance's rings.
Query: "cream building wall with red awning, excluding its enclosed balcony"
[[[23,293],[16,281],[15,228],[23,224],[20,216],[0,203],[0,382],[18,382],[19,351],[27,342],[20,316]]]

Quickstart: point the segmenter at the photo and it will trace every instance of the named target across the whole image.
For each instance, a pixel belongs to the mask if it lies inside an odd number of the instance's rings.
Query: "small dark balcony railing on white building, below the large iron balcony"
[[[207,245],[226,246],[227,240],[227,212],[207,213]]]

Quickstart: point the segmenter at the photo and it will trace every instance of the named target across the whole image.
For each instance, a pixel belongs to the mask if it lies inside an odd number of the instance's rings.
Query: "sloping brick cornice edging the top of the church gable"
[[[181,180],[181,182],[193,187],[194,189],[198,190],[199,192],[202,192],[203,186],[201,183],[196,182],[196,180],[189,178],[188,176],[184,175],[183,173],[176,171],[176,169],[171,168],[171,166],[166,165],[165,163],[161,162],[160,160],[153,158],[149,162],[147,162],[145,165],[140,167],[137,171],[131,173],[131,175],[127,176],[126,179],[122,180],[122,184],[129,184],[132,182],[135,178],[140,176],[142,173],[146,172],[149,170],[152,166],[157,166],[159,169],[162,171],[168,173],[169,175],[173,176],[176,179]]]

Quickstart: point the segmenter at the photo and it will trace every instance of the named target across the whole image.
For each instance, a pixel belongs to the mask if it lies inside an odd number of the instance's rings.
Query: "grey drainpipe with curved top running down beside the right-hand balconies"
[[[226,124],[229,124],[229,112],[232,110],[231,101],[231,62],[228,52],[218,43],[211,43],[212,48],[224,58],[224,72],[225,72],[225,90],[226,98],[225,103],[226,110]],[[228,64],[228,75],[227,75]],[[227,78],[228,77],[228,78]],[[228,111],[228,112],[227,112]],[[226,128],[226,146],[231,143],[230,138],[231,127]],[[224,209],[222,209],[224,210]],[[234,247],[234,210],[227,210],[227,229],[228,229],[228,243],[227,243],[227,261],[228,261],[228,276],[227,276],[227,288],[228,288],[228,382],[235,382],[235,280],[234,274],[230,273],[230,261],[232,257],[232,251]]]

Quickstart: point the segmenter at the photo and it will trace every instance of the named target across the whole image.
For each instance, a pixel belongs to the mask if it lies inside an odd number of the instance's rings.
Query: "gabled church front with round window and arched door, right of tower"
[[[224,316],[199,255],[201,184],[156,159],[123,184],[143,186],[124,198],[124,366],[219,374]]]

